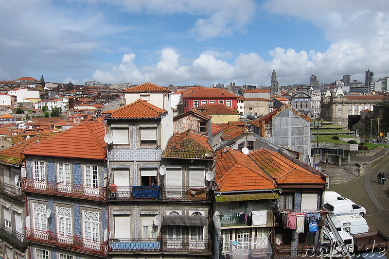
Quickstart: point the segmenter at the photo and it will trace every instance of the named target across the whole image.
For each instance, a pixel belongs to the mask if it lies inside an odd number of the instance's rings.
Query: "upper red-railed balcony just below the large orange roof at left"
[[[85,185],[35,181],[27,178],[22,178],[21,186],[23,191],[28,192],[67,196],[78,199],[106,200],[106,190],[103,187],[93,188]]]

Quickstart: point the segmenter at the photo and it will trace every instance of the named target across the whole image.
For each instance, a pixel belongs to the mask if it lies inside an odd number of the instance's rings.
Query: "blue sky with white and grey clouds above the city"
[[[160,86],[364,82],[389,70],[389,1],[0,0],[0,80]]]

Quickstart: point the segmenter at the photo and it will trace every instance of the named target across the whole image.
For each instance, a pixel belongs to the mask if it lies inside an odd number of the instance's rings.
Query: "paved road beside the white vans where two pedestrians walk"
[[[379,230],[389,236],[389,181],[378,184],[377,174],[385,173],[389,179],[389,156],[386,156],[365,175],[338,185],[330,186],[342,196],[366,208],[365,219],[370,231]]]

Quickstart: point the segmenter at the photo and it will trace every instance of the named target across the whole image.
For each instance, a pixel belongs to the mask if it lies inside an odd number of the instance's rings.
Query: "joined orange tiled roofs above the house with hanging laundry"
[[[220,183],[220,191],[269,190],[288,184],[326,184],[320,175],[267,149],[244,155],[225,148],[217,151],[216,156],[215,181]]]

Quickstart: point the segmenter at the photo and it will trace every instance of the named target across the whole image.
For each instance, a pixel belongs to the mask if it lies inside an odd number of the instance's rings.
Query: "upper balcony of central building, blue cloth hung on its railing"
[[[108,200],[177,200],[207,201],[211,199],[208,187],[190,186],[115,186],[107,188]]]

